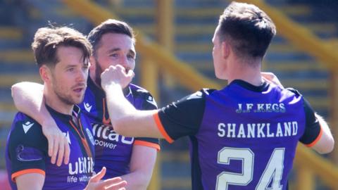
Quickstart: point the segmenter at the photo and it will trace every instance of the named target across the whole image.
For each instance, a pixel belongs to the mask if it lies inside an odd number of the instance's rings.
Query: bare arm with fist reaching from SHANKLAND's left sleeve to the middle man
[[[127,137],[163,138],[153,118],[158,110],[136,110],[123,95],[123,84],[132,80],[133,72],[125,74],[122,66],[111,66],[101,75],[106,91],[108,112],[115,132]]]

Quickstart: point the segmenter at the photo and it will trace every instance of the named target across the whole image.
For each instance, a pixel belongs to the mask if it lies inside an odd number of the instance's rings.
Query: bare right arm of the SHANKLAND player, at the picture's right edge
[[[315,114],[315,117],[320,122],[320,127],[322,130],[322,134],[320,139],[318,139],[317,143],[312,146],[312,148],[318,153],[330,153],[334,148],[334,139],[332,137],[332,133],[330,131],[327,122],[318,114]]]

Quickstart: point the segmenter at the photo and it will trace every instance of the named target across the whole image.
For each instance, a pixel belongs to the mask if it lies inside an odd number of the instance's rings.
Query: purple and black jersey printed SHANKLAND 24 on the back
[[[321,129],[297,91],[234,80],[203,89],[154,115],[169,142],[189,136],[192,189],[287,189],[298,141]]]

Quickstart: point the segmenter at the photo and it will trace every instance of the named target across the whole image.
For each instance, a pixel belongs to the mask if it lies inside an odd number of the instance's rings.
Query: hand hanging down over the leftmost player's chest
[[[42,124],[42,133],[48,140],[48,155],[51,156],[51,163],[61,166],[63,163],[68,164],[70,156],[70,147],[68,139],[63,132],[57,127],[54,120]],[[56,156],[58,156],[56,162]]]

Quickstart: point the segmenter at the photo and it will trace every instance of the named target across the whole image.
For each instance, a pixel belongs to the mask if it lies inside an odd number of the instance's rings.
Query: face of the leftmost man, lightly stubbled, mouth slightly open
[[[84,63],[81,49],[73,46],[60,46],[56,53],[59,62],[51,69],[51,87],[63,103],[81,103],[87,84],[88,60]]]

